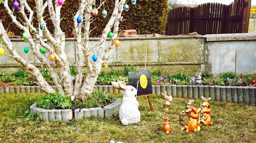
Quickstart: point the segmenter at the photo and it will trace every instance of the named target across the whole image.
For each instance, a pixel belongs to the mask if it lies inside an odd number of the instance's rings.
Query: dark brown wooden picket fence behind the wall
[[[175,8],[169,12],[167,35],[248,33],[250,5],[251,0],[234,0]]]

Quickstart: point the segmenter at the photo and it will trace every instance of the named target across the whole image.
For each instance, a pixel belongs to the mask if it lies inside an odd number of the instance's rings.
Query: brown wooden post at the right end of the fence
[[[249,20],[250,20],[250,8],[251,8],[251,0],[244,0],[241,33],[248,33]]]

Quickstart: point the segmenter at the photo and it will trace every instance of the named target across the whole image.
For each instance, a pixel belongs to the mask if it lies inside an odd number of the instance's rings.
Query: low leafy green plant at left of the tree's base
[[[71,97],[62,96],[58,93],[50,93],[42,96],[39,101],[36,102],[36,106],[45,109],[71,109]]]

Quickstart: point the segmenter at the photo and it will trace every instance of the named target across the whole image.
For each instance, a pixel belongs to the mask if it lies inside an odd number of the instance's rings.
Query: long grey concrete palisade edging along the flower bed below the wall
[[[55,88],[55,87],[53,87]],[[95,85],[94,90],[108,93],[122,93],[112,85]],[[167,95],[178,98],[211,97],[215,101],[227,101],[256,105],[256,87],[230,87],[219,85],[152,85],[153,94],[161,95],[166,90]],[[40,87],[0,87],[0,93],[44,93]],[[109,110],[107,107],[104,110]],[[102,112],[102,111],[101,111]],[[102,116],[102,115],[101,115]],[[107,114],[108,116],[108,114]]]

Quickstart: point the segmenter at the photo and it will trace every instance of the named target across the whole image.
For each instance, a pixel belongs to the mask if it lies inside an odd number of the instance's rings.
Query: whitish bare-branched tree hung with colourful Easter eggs
[[[70,61],[67,54],[65,53],[65,33],[62,32],[60,28],[60,10],[62,5],[58,4],[57,0],[34,0],[36,7],[36,19],[38,25],[33,23],[34,11],[31,9],[26,0],[20,0],[19,12],[22,14],[23,23],[20,23],[12,10],[8,6],[8,0],[2,0],[5,9],[10,15],[12,21],[22,29],[28,36],[25,41],[29,42],[30,48],[33,54],[41,62],[41,64],[47,69],[49,75],[52,77],[53,83],[56,85],[56,91],[50,86],[46,79],[42,76],[39,69],[33,64],[28,63],[22,56],[20,56],[15,47],[12,45],[5,28],[0,21],[0,38],[4,41],[5,47],[9,50],[12,58],[16,60],[21,68],[26,72],[34,76],[37,80],[38,85],[41,90],[46,93],[58,92],[62,95],[78,96],[83,98],[84,96],[90,95],[93,91],[97,77],[101,71],[102,65],[108,61],[109,51],[115,46],[114,40],[117,39],[119,22],[122,20],[122,11],[125,4],[125,0],[115,0],[115,7],[109,22],[106,24],[104,30],[102,31],[101,39],[98,41],[96,47],[89,47],[89,36],[92,30],[90,30],[90,23],[93,22],[92,12],[93,3],[95,0],[81,0],[79,5],[79,10],[74,16],[74,29],[77,36],[77,47],[78,52],[76,56],[78,57],[78,62],[76,65],[76,77],[72,77],[70,73]],[[65,1],[65,0],[63,0]],[[100,1],[99,9],[104,2]],[[44,13],[46,8],[48,8],[50,13],[51,23],[46,23],[46,18]],[[29,15],[26,12],[29,11]],[[78,16],[82,18],[81,22],[77,20]],[[36,25],[36,26],[35,26]],[[40,25],[45,27],[42,29]],[[48,30],[48,26],[54,26],[54,33],[51,34]],[[112,42],[108,42],[107,36],[114,26],[114,35]],[[30,32],[31,31],[31,32]],[[82,32],[84,31],[84,32]],[[32,38],[34,37],[34,39]],[[46,38],[50,44],[44,42]],[[51,56],[53,56],[54,62],[50,62],[45,56],[40,52],[40,48],[44,47]],[[92,60],[92,50],[97,51],[98,59],[96,62]],[[87,68],[87,76],[82,80],[84,72],[83,67]],[[75,82],[73,82],[75,80]]]

